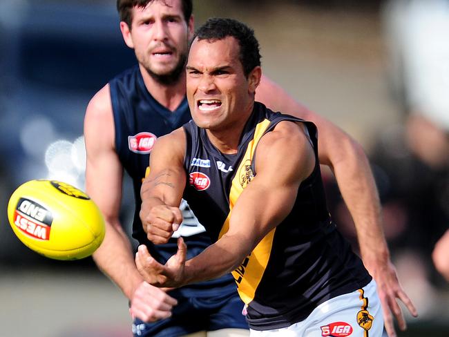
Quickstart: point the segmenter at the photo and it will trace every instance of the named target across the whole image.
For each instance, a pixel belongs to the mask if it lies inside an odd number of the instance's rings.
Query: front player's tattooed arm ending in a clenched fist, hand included
[[[140,219],[148,239],[155,244],[169,241],[182,222],[179,209],[186,183],[184,130],[178,128],[157,139],[150,157],[150,173],[140,196]]]

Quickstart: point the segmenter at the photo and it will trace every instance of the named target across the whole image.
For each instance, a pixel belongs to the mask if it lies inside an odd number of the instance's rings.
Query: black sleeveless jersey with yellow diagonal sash
[[[229,228],[240,193],[257,174],[258,141],[283,120],[305,123],[316,165],[300,184],[292,212],[233,271],[240,298],[248,305],[249,327],[256,330],[288,327],[304,320],[320,303],[360,289],[372,279],[327,211],[316,127],[310,122],[274,113],[256,102],[238,153],[232,155],[220,153],[206,131],[189,122],[184,126],[184,166],[189,177],[184,199],[211,239],[218,240]],[[254,200],[256,207],[257,202]]]

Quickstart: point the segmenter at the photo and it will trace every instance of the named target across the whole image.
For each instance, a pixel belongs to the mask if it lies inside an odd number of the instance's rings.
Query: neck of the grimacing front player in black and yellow
[[[218,148],[218,151],[227,155],[238,152],[238,144],[240,143],[243,129],[253,112],[253,108],[254,102],[251,102],[250,106],[245,109],[245,113],[242,113],[235,123],[227,126],[220,126],[218,130],[206,130],[209,140],[213,146]]]

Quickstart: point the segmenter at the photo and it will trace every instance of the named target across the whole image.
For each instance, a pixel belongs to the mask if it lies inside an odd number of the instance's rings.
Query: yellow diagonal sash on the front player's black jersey
[[[231,191],[229,193],[229,214],[222,226],[222,230],[220,231],[218,238],[221,238],[222,235],[224,235],[229,229],[229,219],[231,218],[233,206],[236,204],[238,197],[250,180],[247,180],[247,176],[242,177],[242,175],[248,171],[248,166],[251,165],[256,146],[263,133],[265,133],[265,130],[267,130],[269,124],[270,121],[265,119],[256,126],[254,138],[251,142],[249,142],[245,156],[240,162],[240,166],[236,171],[236,176],[232,180]],[[256,289],[262,279],[265,269],[267,268],[275,231],[276,228],[265,235],[265,238],[263,238],[254,251],[252,251],[251,254],[245,258],[242,264],[240,264],[240,267],[232,272],[232,275],[237,283],[238,294],[245,304],[249,304],[249,302],[254,299]]]

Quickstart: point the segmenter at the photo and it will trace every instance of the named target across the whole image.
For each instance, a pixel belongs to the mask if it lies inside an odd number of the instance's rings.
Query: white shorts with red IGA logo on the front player
[[[303,321],[281,329],[256,331],[251,337],[380,337],[383,335],[381,302],[372,280],[362,289],[321,303]]]

